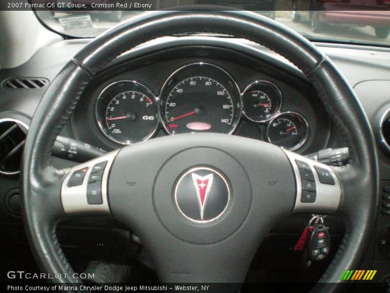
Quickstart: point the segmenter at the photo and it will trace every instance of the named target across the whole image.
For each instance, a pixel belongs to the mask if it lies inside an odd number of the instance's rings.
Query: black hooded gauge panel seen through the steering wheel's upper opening
[[[214,46],[179,46],[147,59],[119,63],[91,82],[72,117],[77,139],[111,150],[159,136],[216,132],[297,152],[330,140],[330,119],[300,76]]]

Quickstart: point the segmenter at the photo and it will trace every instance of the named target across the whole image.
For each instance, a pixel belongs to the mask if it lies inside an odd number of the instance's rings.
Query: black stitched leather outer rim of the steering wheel
[[[69,170],[52,167],[50,149],[86,84],[109,62],[138,44],[165,35],[196,32],[230,34],[266,44],[308,77],[336,126],[344,129],[351,151],[350,165],[332,171],[342,186],[341,200],[334,211],[344,217],[347,231],[339,251],[320,280],[329,283],[321,287],[322,290],[335,291],[342,285],[338,279],[340,273],[360,263],[375,220],[378,166],[373,135],[351,86],[329,58],[291,29],[245,11],[147,13],[107,31],[61,70],[34,115],[22,163],[23,220],[39,266],[52,274],[73,272],[55,233],[57,223],[65,216],[61,188]],[[56,281],[78,282],[66,278]]]

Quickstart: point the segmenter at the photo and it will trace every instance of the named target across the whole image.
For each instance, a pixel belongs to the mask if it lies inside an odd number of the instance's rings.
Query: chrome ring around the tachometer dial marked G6
[[[124,143],[122,141],[119,141],[113,137],[111,137],[109,134],[107,134],[105,131],[104,131],[104,126],[102,125],[102,123],[104,123],[104,121],[100,121],[101,119],[99,119],[99,114],[98,114],[98,103],[100,101],[100,97],[101,95],[104,93],[104,91],[106,91],[109,87],[111,87],[112,85],[115,85],[115,84],[118,84],[118,83],[123,83],[123,82],[126,82],[126,83],[132,83],[133,86],[139,86],[141,88],[143,88],[146,93],[148,93],[148,98],[150,98],[153,102],[153,105],[155,107],[155,110],[156,110],[156,126],[155,128],[153,129],[153,131],[146,137],[144,138],[143,140],[141,141],[146,141],[148,139],[150,139],[151,137],[153,137],[158,128],[159,128],[159,124],[160,124],[160,120],[158,118],[158,113],[157,113],[157,98],[156,96],[153,94],[153,92],[147,87],[145,86],[144,84],[141,84],[140,82],[136,81],[136,80],[126,80],[126,79],[121,79],[121,80],[117,80],[117,81],[114,81],[114,82],[111,82],[110,84],[107,84],[106,86],[104,86],[104,88],[102,90],[99,91],[99,94],[98,94],[98,98],[96,99],[96,103],[95,103],[95,121],[96,123],[98,124],[98,128],[100,130],[100,132],[103,134],[103,136],[107,139],[109,139],[110,141],[112,141],[113,143],[117,144],[117,145],[120,145],[120,146],[129,146],[129,145],[134,145],[134,144],[137,144],[138,142],[130,142],[130,143]],[[139,142],[141,142],[139,141]]]

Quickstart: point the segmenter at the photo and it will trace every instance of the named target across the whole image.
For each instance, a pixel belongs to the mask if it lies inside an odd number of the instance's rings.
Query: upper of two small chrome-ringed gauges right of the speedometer
[[[271,120],[279,111],[282,96],[279,89],[270,82],[256,81],[242,94],[243,113],[254,122]]]

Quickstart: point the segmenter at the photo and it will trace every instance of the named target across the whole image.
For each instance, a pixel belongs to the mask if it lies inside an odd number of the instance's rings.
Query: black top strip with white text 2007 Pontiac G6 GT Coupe
[[[38,11],[152,11],[152,10],[248,10],[248,11],[382,11],[390,0],[1,0],[0,10]]]

